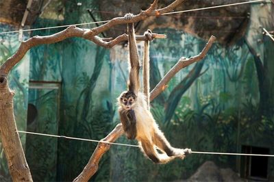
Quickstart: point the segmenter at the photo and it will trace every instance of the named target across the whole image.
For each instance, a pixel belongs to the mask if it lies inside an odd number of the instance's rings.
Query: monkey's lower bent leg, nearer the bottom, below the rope
[[[165,153],[160,154],[156,151],[155,146],[152,142],[148,142],[147,140],[143,140],[141,142],[142,151],[153,161],[155,164],[165,164],[173,159],[175,156],[167,156]]]

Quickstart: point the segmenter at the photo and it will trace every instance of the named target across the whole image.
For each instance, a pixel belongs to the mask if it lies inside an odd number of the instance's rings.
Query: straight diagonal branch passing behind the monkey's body
[[[202,60],[204,57],[206,57],[206,54],[208,53],[208,50],[210,47],[212,47],[212,44],[216,40],[214,36],[211,36],[210,40],[208,40],[208,43],[206,44],[206,47],[203,48],[203,51],[199,53],[199,55],[196,55],[195,57],[190,57],[188,59],[181,58],[171,70],[169,70],[168,73],[162,78],[162,80],[158,83],[158,85],[150,92],[150,101],[155,99],[156,96],[158,96],[166,86],[166,83],[169,82],[169,80],[174,77],[174,75],[181,70],[182,68],[189,66],[190,64],[194,62],[198,62],[199,60]],[[106,138],[103,139],[103,141],[106,142],[115,142],[121,135],[123,135],[124,131],[122,128],[121,123],[116,125],[116,127],[112,130],[110,134]],[[92,156],[90,157],[90,160],[88,161],[88,164],[86,164],[86,167],[84,170],[79,174],[77,178],[75,178],[73,181],[88,181],[95,172],[98,170],[98,164],[103,156],[104,153],[106,153],[110,149],[110,144],[104,144],[99,143],[97,145],[97,148],[92,153]]]

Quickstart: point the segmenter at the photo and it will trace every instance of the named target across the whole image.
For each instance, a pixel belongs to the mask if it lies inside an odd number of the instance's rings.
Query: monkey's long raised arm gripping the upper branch
[[[133,14],[125,14],[125,18],[130,20],[134,16]],[[130,71],[129,71],[129,90],[134,92],[134,94],[138,94],[139,86],[139,57],[138,57],[138,49],[135,40],[135,32],[134,32],[134,24],[127,24],[127,34],[129,36],[129,62],[130,62]]]

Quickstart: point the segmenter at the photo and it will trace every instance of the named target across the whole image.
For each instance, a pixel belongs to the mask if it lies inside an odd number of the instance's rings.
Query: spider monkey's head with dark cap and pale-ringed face
[[[125,110],[130,110],[136,104],[136,94],[132,91],[125,91],[119,96],[119,103]]]

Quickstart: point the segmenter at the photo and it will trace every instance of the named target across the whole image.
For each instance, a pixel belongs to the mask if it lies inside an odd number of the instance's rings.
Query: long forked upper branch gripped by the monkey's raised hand
[[[114,40],[110,42],[105,42],[103,39],[99,38],[97,36],[103,31],[106,31],[110,29],[111,27],[114,27],[115,25],[120,24],[126,24],[126,23],[135,23],[138,21],[143,21],[149,16],[158,16],[165,12],[170,12],[171,10],[174,10],[177,5],[182,3],[184,0],[175,0],[170,5],[166,6],[165,8],[155,10],[155,7],[158,3],[158,0],[153,1],[151,4],[151,7],[148,8],[145,11],[141,11],[139,14],[133,16],[129,21],[126,20],[124,17],[116,17],[112,18],[108,23],[105,23],[99,27],[95,27],[93,29],[79,29],[75,26],[70,26],[66,28],[63,31],[58,32],[57,34],[53,34],[51,36],[34,36],[32,38],[29,38],[27,41],[23,41],[12,57],[8,58],[8,60],[5,61],[3,66],[0,68],[0,75],[8,75],[10,70],[13,66],[15,66],[27,53],[29,49],[32,47],[39,45],[39,44],[52,44],[55,42],[60,42],[66,38],[72,38],[72,37],[82,37],[87,40],[91,40],[95,42],[96,44],[99,44],[103,47],[113,47],[115,44],[118,44],[120,41],[126,40],[125,35],[119,36],[115,38]]]

